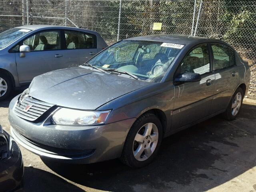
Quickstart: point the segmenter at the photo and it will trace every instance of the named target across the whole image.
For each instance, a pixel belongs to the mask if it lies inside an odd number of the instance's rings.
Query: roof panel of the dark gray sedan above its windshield
[[[171,35],[171,34],[162,34],[162,35],[147,35],[147,36],[138,36],[128,38],[128,40],[146,40],[146,41],[159,41],[159,42],[170,42],[178,44],[194,44],[200,42],[216,41],[215,39],[198,37],[198,36],[188,36],[188,35]]]

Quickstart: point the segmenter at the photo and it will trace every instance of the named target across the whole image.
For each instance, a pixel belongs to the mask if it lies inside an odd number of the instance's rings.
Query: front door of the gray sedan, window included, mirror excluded
[[[193,48],[184,58],[176,74],[201,74],[200,82],[174,83],[175,100],[172,129],[186,126],[209,115],[214,94],[215,76],[208,44]]]

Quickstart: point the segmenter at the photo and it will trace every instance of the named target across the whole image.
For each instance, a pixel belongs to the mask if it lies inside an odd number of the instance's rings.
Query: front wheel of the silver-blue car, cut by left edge
[[[12,82],[8,75],[0,72],[0,101],[6,99],[12,90]]]

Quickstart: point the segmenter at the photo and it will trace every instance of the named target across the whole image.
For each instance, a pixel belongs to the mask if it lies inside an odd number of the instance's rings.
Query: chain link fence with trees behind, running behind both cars
[[[26,24],[86,28],[99,32],[108,44],[151,34],[218,38],[256,70],[252,0],[1,0],[0,22],[0,32]],[[152,30],[154,22],[162,23],[162,29]],[[255,88],[255,80],[253,84]]]

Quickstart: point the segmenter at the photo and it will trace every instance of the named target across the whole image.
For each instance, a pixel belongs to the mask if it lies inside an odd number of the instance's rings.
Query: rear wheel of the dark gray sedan
[[[244,92],[242,88],[237,88],[237,90],[234,92],[230,103],[228,104],[228,108],[226,111],[222,114],[222,117],[226,120],[234,120],[240,113],[240,109],[243,103],[244,98]]]

